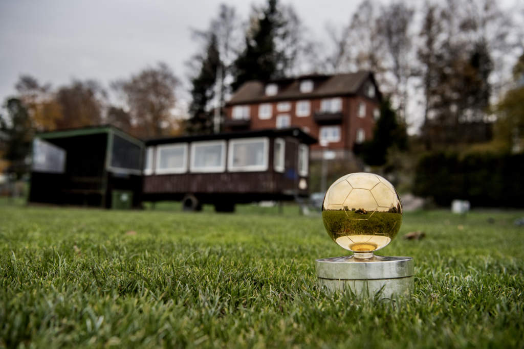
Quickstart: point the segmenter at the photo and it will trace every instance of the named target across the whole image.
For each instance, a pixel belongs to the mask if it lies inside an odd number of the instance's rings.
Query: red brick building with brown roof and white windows
[[[300,127],[319,140],[337,159],[352,156],[355,144],[373,137],[381,94],[373,73],[304,75],[268,82],[249,81],[226,104],[224,128],[267,129]]]

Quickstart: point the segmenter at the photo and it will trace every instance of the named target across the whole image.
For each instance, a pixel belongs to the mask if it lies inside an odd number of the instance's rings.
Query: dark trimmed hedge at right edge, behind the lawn
[[[442,206],[462,199],[476,207],[524,207],[524,154],[423,155],[413,194],[432,197]]]

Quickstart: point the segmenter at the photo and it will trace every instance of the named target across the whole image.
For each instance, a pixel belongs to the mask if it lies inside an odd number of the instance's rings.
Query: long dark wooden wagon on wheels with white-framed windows
[[[150,139],[142,198],[232,211],[238,203],[307,196],[315,142],[299,128]]]

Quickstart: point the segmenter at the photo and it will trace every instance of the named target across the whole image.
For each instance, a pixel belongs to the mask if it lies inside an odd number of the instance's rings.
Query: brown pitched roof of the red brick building
[[[227,105],[352,95],[358,92],[358,89],[368,78],[375,83],[373,73],[370,71],[335,75],[303,75],[296,78],[283,78],[265,82],[253,80],[239,87]],[[313,91],[309,93],[300,92],[300,82],[304,80],[313,81]],[[278,85],[278,93],[274,96],[266,96],[265,86],[271,83]]]

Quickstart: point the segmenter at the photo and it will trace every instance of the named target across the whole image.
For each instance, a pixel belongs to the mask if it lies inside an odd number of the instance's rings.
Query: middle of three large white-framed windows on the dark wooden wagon
[[[191,172],[224,172],[225,169],[225,141],[191,143]]]

